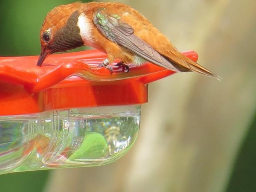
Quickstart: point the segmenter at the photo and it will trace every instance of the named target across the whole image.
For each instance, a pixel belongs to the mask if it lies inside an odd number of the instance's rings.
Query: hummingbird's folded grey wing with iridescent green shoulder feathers
[[[121,20],[119,15],[108,14],[105,8],[99,8],[93,13],[93,23],[110,41],[129,49],[149,62],[173,71],[180,71],[153,47],[134,35],[134,29]]]

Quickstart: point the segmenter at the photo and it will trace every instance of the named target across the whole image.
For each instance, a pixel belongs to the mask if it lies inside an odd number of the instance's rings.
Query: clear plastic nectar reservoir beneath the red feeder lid
[[[140,127],[140,105],[0,116],[0,173],[111,163]]]

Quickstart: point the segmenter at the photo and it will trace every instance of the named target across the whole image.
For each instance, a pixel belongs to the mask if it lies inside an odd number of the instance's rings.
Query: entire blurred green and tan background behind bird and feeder
[[[71,2],[74,1],[1,0],[0,55],[38,55],[39,30],[47,12],[55,6]],[[138,191],[159,192],[256,191],[254,1],[123,2],[143,12],[179,49],[198,51],[200,61],[207,64],[208,68],[214,69],[224,80],[220,83],[213,82],[212,79],[198,77],[195,74],[186,77],[180,75],[181,79],[178,79],[175,75],[173,78],[152,84],[149,104],[142,111],[145,115],[142,116],[144,124],[142,122],[140,138],[123,160],[104,167],[76,169],[73,172],[37,171],[0,175],[0,191],[57,192],[57,187],[54,186],[65,186],[67,180],[73,185],[80,185],[80,188],[76,186],[73,191],[103,191],[106,186],[107,189],[104,191],[116,192],[135,191],[133,186],[136,186]],[[177,87],[176,91],[173,87]],[[168,89],[172,90],[172,94],[166,93],[169,97],[163,99],[164,91]],[[187,97],[183,98],[183,95]],[[161,100],[165,101],[163,105],[160,103]],[[185,102],[177,105],[176,102],[179,100]],[[168,102],[169,105],[166,106]],[[180,110],[181,108],[184,110]],[[160,134],[154,135],[154,138],[157,138],[156,143],[164,145],[161,153],[153,142],[152,134],[146,132],[149,128],[147,122],[150,122],[150,115],[164,122],[164,125],[157,129],[157,133]],[[213,120],[205,118],[204,115],[211,116]],[[184,128],[181,128],[181,124]],[[200,125],[205,126],[199,129]],[[239,128],[236,128],[236,125]],[[152,130],[156,130],[154,125],[152,126]],[[189,134],[189,131],[192,131],[192,134]],[[155,148],[152,148],[153,145]],[[175,146],[176,151],[172,148],[169,150],[169,145]],[[192,151],[191,146],[194,147]],[[233,153],[225,156],[230,153],[230,149]],[[144,154],[141,151],[148,153]],[[177,165],[178,173],[172,172],[175,166],[169,166],[173,156],[177,157],[177,160],[174,159],[176,163],[173,164]],[[191,160],[194,160],[194,163],[191,163]],[[136,162],[148,165],[147,170]],[[157,162],[160,162],[160,165],[157,165]],[[219,166],[222,162],[223,165]],[[112,171],[114,173],[107,174]],[[65,174],[66,177],[63,176]],[[61,175],[64,177],[63,180],[60,179]],[[76,181],[72,180],[73,177]],[[117,182],[115,178],[120,177],[122,179]],[[133,178],[137,178],[136,181]],[[91,186],[83,187],[81,183],[88,180],[88,185]],[[110,185],[115,187],[111,188]],[[152,185],[155,187],[151,187]]]

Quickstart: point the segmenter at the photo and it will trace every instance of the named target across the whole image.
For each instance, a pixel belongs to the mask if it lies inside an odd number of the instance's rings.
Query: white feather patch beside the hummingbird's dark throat
[[[89,45],[93,47],[94,45],[93,34],[92,34],[93,24],[90,22],[90,20],[87,18],[86,15],[81,14],[78,17],[77,26],[80,29],[80,35],[82,40],[84,41],[84,45]]]

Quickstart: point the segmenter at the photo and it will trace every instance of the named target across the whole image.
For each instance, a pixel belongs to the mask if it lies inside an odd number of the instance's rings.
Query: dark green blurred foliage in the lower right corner
[[[256,113],[241,144],[226,192],[253,192],[256,189]]]

